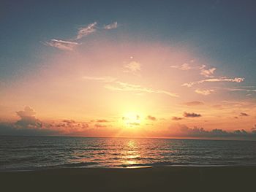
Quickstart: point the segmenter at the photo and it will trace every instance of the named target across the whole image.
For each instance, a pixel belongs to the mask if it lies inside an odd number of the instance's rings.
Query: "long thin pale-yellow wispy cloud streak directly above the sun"
[[[114,85],[105,85],[105,88],[108,88],[109,90],[113,91],[138,91],[146,93],[162,93],[167,96],[178,97],[178,94],[170,93],[169,91],[154,90],[152,88],[142,87],[141,85],[134,85],[120,81],[114,82]]]

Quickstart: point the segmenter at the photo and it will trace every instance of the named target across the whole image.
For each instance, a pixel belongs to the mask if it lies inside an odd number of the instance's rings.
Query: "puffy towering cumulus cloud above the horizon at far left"
[[[42,122],[36,118],[36,112],[31,107],[26,106],[16,114],[20,117],[15,123],[16,128],[42,128]]]

